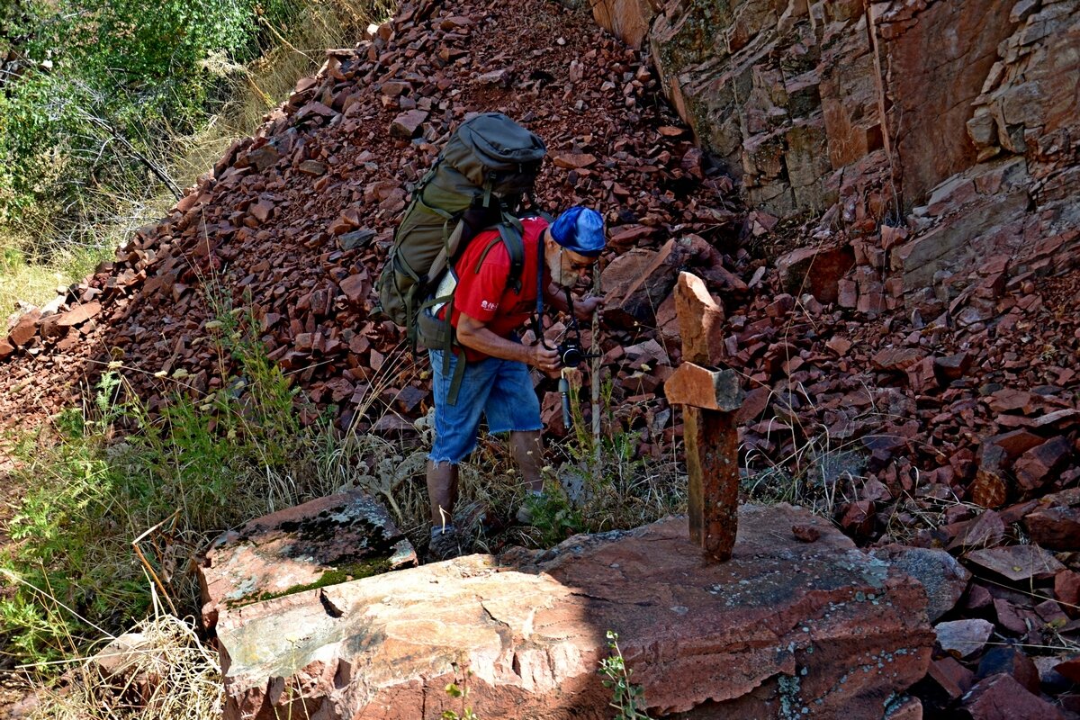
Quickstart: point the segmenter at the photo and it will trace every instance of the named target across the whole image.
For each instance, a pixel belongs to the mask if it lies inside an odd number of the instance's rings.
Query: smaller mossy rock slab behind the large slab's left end
[[[200,562],[203,623],[314,587],[411,568],[416,551],[386,508],[360,492],[319,498],[226,532]]]

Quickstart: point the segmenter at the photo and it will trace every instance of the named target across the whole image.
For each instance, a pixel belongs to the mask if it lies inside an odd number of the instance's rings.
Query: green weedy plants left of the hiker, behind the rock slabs
[[[315,474],[323,429],[300,427],[287,378],[245,323],[221,325],[230,327],[219,349],[238,354],[242,375],[217,392],[178,393],[151,417],[116,364],[91,407],[19,443],[13,481],[29,490],[0,557],[15,587],[0,620],[24,658],[63,656],[145,616],[147,575],[131,542],[148,528],[174,518],[147,554],[170,601],[193,613],[189,562],[208,540],[326,492]]]

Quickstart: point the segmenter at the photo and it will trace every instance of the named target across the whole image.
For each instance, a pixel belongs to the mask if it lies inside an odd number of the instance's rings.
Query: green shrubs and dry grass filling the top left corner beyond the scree
[[[390,4],[0,2],[0,307],[109,259],[318,69],[297,47],[351,44]]]

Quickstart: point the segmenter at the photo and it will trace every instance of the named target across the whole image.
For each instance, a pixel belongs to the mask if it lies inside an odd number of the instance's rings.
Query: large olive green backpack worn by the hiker
[[[488,112],[463,122],[421,178],[378,280],[382,312],[406,328],[414,349],[449,350],[454,342],[449,323],[424,311],[453,303],[453,293],[431,295],[480,231],[499,230],[484,254],[496,243],[507,246],[508,287],[519,291],[524,248],[514,212],[523,195],[531,193],[545,153],[540,137],[502,113]],[[446,317],[450,312],[453,308]]]

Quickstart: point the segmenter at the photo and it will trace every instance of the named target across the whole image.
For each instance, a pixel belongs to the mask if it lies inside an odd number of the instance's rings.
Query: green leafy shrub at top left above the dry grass
[[[178,192],[170,144],[227,99],[207,60],[259,56],[279,43],[270,27],[318,2],[24,3],[9,19],[25,30],[9,32],[17,72],[0,94],[0,223],[64,234],[114,212],[92,202],[97,191],[123,196],[164,182]]]

